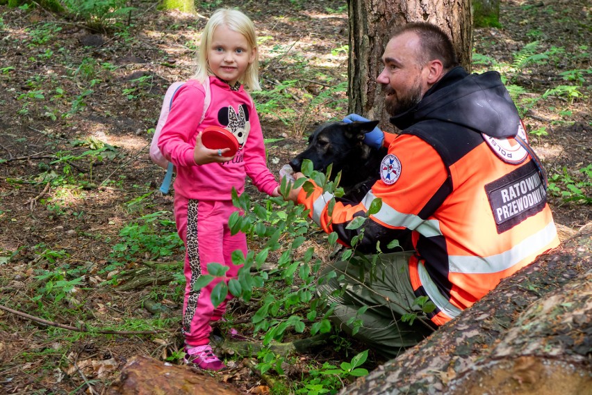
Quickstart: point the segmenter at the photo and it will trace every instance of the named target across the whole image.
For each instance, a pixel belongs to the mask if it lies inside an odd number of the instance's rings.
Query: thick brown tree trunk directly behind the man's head
[[[381,56],[397,26],[408,22],[431,22],[452,38],[461,65],[470,71],[472,25],[469,0],[350,0],[350,63],[347,96],[350,113],[380,120],[392,131],[383,111],[384,95],[376,78],[382,70]]]

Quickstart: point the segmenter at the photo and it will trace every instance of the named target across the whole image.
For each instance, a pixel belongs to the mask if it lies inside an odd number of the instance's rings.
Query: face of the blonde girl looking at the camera
[[[217,26],[208,49],[208,65],[216,76],[233,86],[242,79],[247,67],[255,60],[256,49],[251,48],[244,35],[229,29],[226,25]]]

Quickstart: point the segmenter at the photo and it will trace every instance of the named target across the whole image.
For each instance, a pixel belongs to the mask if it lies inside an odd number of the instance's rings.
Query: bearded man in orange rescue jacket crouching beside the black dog
[[[381,60],[377,83],[401,132],[365,135],[388,148],[380,179],[361,202],[335,198],[331,209],[333,196],[312,180],[312,191],[288,198],[365,254],[331,265],[337,275],[321,278],[318,292],[338,328],[395,357],[559,240],[545,172],[500,74],[468,74],[450,38],[423,22],[395,31]],[[375,200],[381,208],[368,215]],[[359,216],[363,227],[348,229]]]

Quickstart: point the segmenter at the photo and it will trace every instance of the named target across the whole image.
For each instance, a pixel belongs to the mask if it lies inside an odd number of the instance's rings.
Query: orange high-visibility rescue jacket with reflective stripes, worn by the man
[[[453,85],[466,78],[478,76],[461,73]],[[505,92],[499,77],[489,74],[459,97],[468,97],[468,104],[475,102],[471,89],[482,92],[487,84],[490,92]],[[440,106],[445,99],[455,99],[446,90],[446,81],[444,85],[432,92],[428,104]],[[491,102],[491,97],[486,100]],[[422,104],[425,99],[413,116],[427,111]],[[504,132],[495,137],[491,131],[486,135],[467,127],[463,115],[457,122],[425,117],[401,135],[385,134],[388,154],[377,169],[381,179],[359,203],[336,199],[329,215],[327,204],[332,196],[319,187],[308,197],[303,190],[298,200],[311,209],[311,217],[325,232],[337,232],[340,241],[350,245],[361,229],[346,229],[347,225],[356,216],[365,216],[372,201],[380,198],[382,207],[363,227],[363,239],[356,248],[376,252],[379,243],[385,252],[390,241],[404,239],[411,232],[416,252],[409,261],[411,285],[417,296],[429,296],[434,302],[437,308],[429,318],[442,325],[502,278],[559,243],[547,204],[546,180],[532,156],[512,137],[521,124],[513,104],[511,108],[509,115],[498,117],[500,122],[511,123],[502,125]],[[433,114],[433,106],[431,110]],[[475,114],[479,116],[473,117],[473,126],[493,122],[493,115],[486,111]],[[447,121],[456,114],[450,115],[445,113]],[[391,121],[400,124],[397,118]],[[508,127],[513,131],[507,131]]]

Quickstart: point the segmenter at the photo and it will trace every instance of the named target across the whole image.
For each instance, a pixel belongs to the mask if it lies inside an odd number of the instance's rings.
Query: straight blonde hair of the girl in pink
[[[245,75],[242,76],[242,84],[246,90],[261,90],[259,86],[259,49],[257,47],[257,38],[255,34],[255,25],[247,15],[239,10],[229,8],[220,8],[208,20],[204,31],[202,31],[202,41],[197,51],[197,70],[191,78],[204,82],[206,78],[214,75],[208,67],[208,49],[210,48],[212,37],[217,26],[224,25],[229,29],[245,36],[249,46],[255,49],[255,59],[247,66]]]

